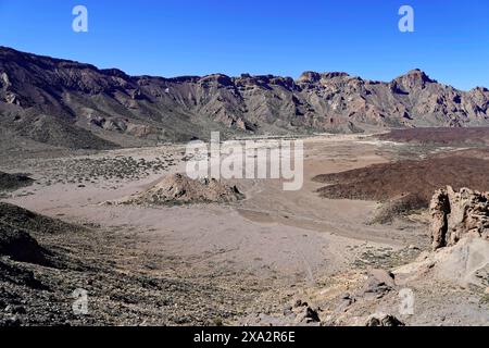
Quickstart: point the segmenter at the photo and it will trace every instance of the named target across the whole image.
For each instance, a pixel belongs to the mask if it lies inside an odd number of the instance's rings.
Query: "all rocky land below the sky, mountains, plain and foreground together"
[[[488,325],[488,117],[486,88],[419,70],[163,78],[0,48],[0,325]],[[189,179],[211,130],[301,137],[303,187]]]

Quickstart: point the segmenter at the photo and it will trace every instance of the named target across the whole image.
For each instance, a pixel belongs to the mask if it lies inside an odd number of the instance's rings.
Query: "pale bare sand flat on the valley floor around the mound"
[[[280,181],[235,181],[247,199],[233,206],[199,204],[172,208],[100,206],[149,187],[164,174],[133,182],[35,185],[35,195],[9,201],[24,208],[77,223],[117,227],[135,238],[135,248],[152,254],[175,256],[195,272],[225,266],[237,274],[273,278],[279,283],[314,282],[348,270],[365,247],[397,249],[413,236],[392,227],[368,226],[376,202],[328,200],[314,192],[317,174],[362,167],[388,161],[378,144],[358,136],[319,136],[304,140],[304,185],[284,191]],[[126,149],[109,156],[152,159],[162,153],[179,158],[183,148]],[[26,169],[20,169],[26,170]],[[167,173],[181,172],[185,163]],[[35,173],[37,178],[42,173]],[[111,185],[116,189],[111,189]],[[356,246],[355,252],[350,247]],[[348,250],[347,250],[348,248]]]

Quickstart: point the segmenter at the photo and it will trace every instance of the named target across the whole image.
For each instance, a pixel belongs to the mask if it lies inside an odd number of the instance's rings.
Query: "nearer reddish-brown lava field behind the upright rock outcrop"
[[[489,190],[487,149],[457,150],[427,158],[373,164],[352,171],[317,175],[314,181],[329,184],[317,191],[323,197],[365,200],[394,200],[411,197],[414,208],[427,208],[432,192],[447,185],[455,189],[473,187]]]

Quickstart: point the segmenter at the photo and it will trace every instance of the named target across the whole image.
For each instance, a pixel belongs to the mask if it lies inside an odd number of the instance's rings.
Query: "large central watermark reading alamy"
[[[304,181],[302,140],[230,140],[221,142],[212,132],[211,142],[190,141],[186,147],[186,174],[190,178],[274,178],[284,190],[299,190]]]

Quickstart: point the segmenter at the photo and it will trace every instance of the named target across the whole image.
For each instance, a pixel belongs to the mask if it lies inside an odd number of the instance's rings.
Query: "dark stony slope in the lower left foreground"
[[[263,289],[243,287],[246,279],[225,288],[184,270],[155,272],[156,264],[179,268],[178,259],[142,258],[114,231],[0,203],[0,326],[215,325],[242,315]],[[77,288],[90,294],[89,315],[72,310]]]

